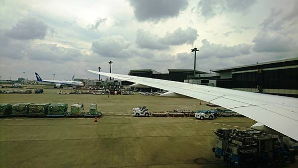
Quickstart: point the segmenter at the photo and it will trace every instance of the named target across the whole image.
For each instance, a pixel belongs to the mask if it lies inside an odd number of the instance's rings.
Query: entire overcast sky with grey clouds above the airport
[[[0,75],[221,68],[298,57],[298,0],[0,0]]]

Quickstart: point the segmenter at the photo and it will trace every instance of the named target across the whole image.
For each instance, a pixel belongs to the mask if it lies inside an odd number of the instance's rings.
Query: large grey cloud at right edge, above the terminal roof
[[[298,52],[298,2],[287,12],[272,8],[267,18],[260,24],[260,31],[253,39],[256,52]],[[295,55],[296,53],[296,55]]]

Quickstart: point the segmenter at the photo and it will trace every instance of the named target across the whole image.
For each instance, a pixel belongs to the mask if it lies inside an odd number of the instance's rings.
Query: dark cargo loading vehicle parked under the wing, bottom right
[[[250,128],[217,129],[215,157],[238,168],[295,162],[295,150],[290,149],[284,137]],[[282,141],[281,141],[282,140]]]

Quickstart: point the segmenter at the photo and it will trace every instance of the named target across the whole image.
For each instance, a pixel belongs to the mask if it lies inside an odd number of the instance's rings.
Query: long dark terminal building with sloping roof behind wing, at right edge
[[[213,70],[186,83],[298,97],[298,58]]]

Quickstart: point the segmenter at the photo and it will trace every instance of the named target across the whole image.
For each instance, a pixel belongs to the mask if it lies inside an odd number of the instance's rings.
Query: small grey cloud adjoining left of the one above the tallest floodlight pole
[[[169,48],[169,45],[162,44],[157,35],[151,34],[149,31],[139,29],[137,31],[136,43],[140,48],[148,48],[153,50],[164,50]]]

